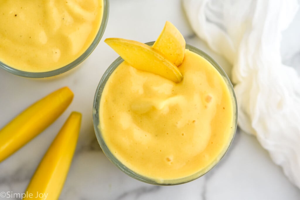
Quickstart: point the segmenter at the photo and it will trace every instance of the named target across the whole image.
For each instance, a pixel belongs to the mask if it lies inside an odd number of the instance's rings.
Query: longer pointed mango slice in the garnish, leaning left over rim
[[[176,65],[151,46],[122,38],[107,38],[104,42],[132,67],[155,73],[176,83],[182,81],[182,74]]]

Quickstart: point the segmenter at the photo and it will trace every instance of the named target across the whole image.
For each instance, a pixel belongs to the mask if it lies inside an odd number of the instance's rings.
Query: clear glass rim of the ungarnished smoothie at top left
[[[100,40],[104,34],[104,31],[105,31],[105,28],[107,25],[107,21],[108,21],[108,15],[109,15],[109,0],[103,0],[102,20],[101,20],[100,28],[96,34],[95,39],[93,40],[91,45],[88,47],[88,49],[85,50],[85,52],[83,52],[78,58],[76,58],[71,63],[65,65],[64,67],[60,67],[58,69],[46,71],[46,72],[27,72],[27,71],[22,71],[22,70],[18,70],[16,68],[10,67],[9,65],[4,64],[3,62],[0,61],[0,68],[9,73],[14,74],[14,75],[22,76],[22,77],[26,77],[26,78],[46,78],[46,77],[56,76],[56,75],[62,74],[64,72],[67,72],[67,71],[73,69],[74,67],[78,66],[80,63],[82,63],[94,51],[94,49],[96,48],[96,46],[98,45],[98,43],[100,42]]]

